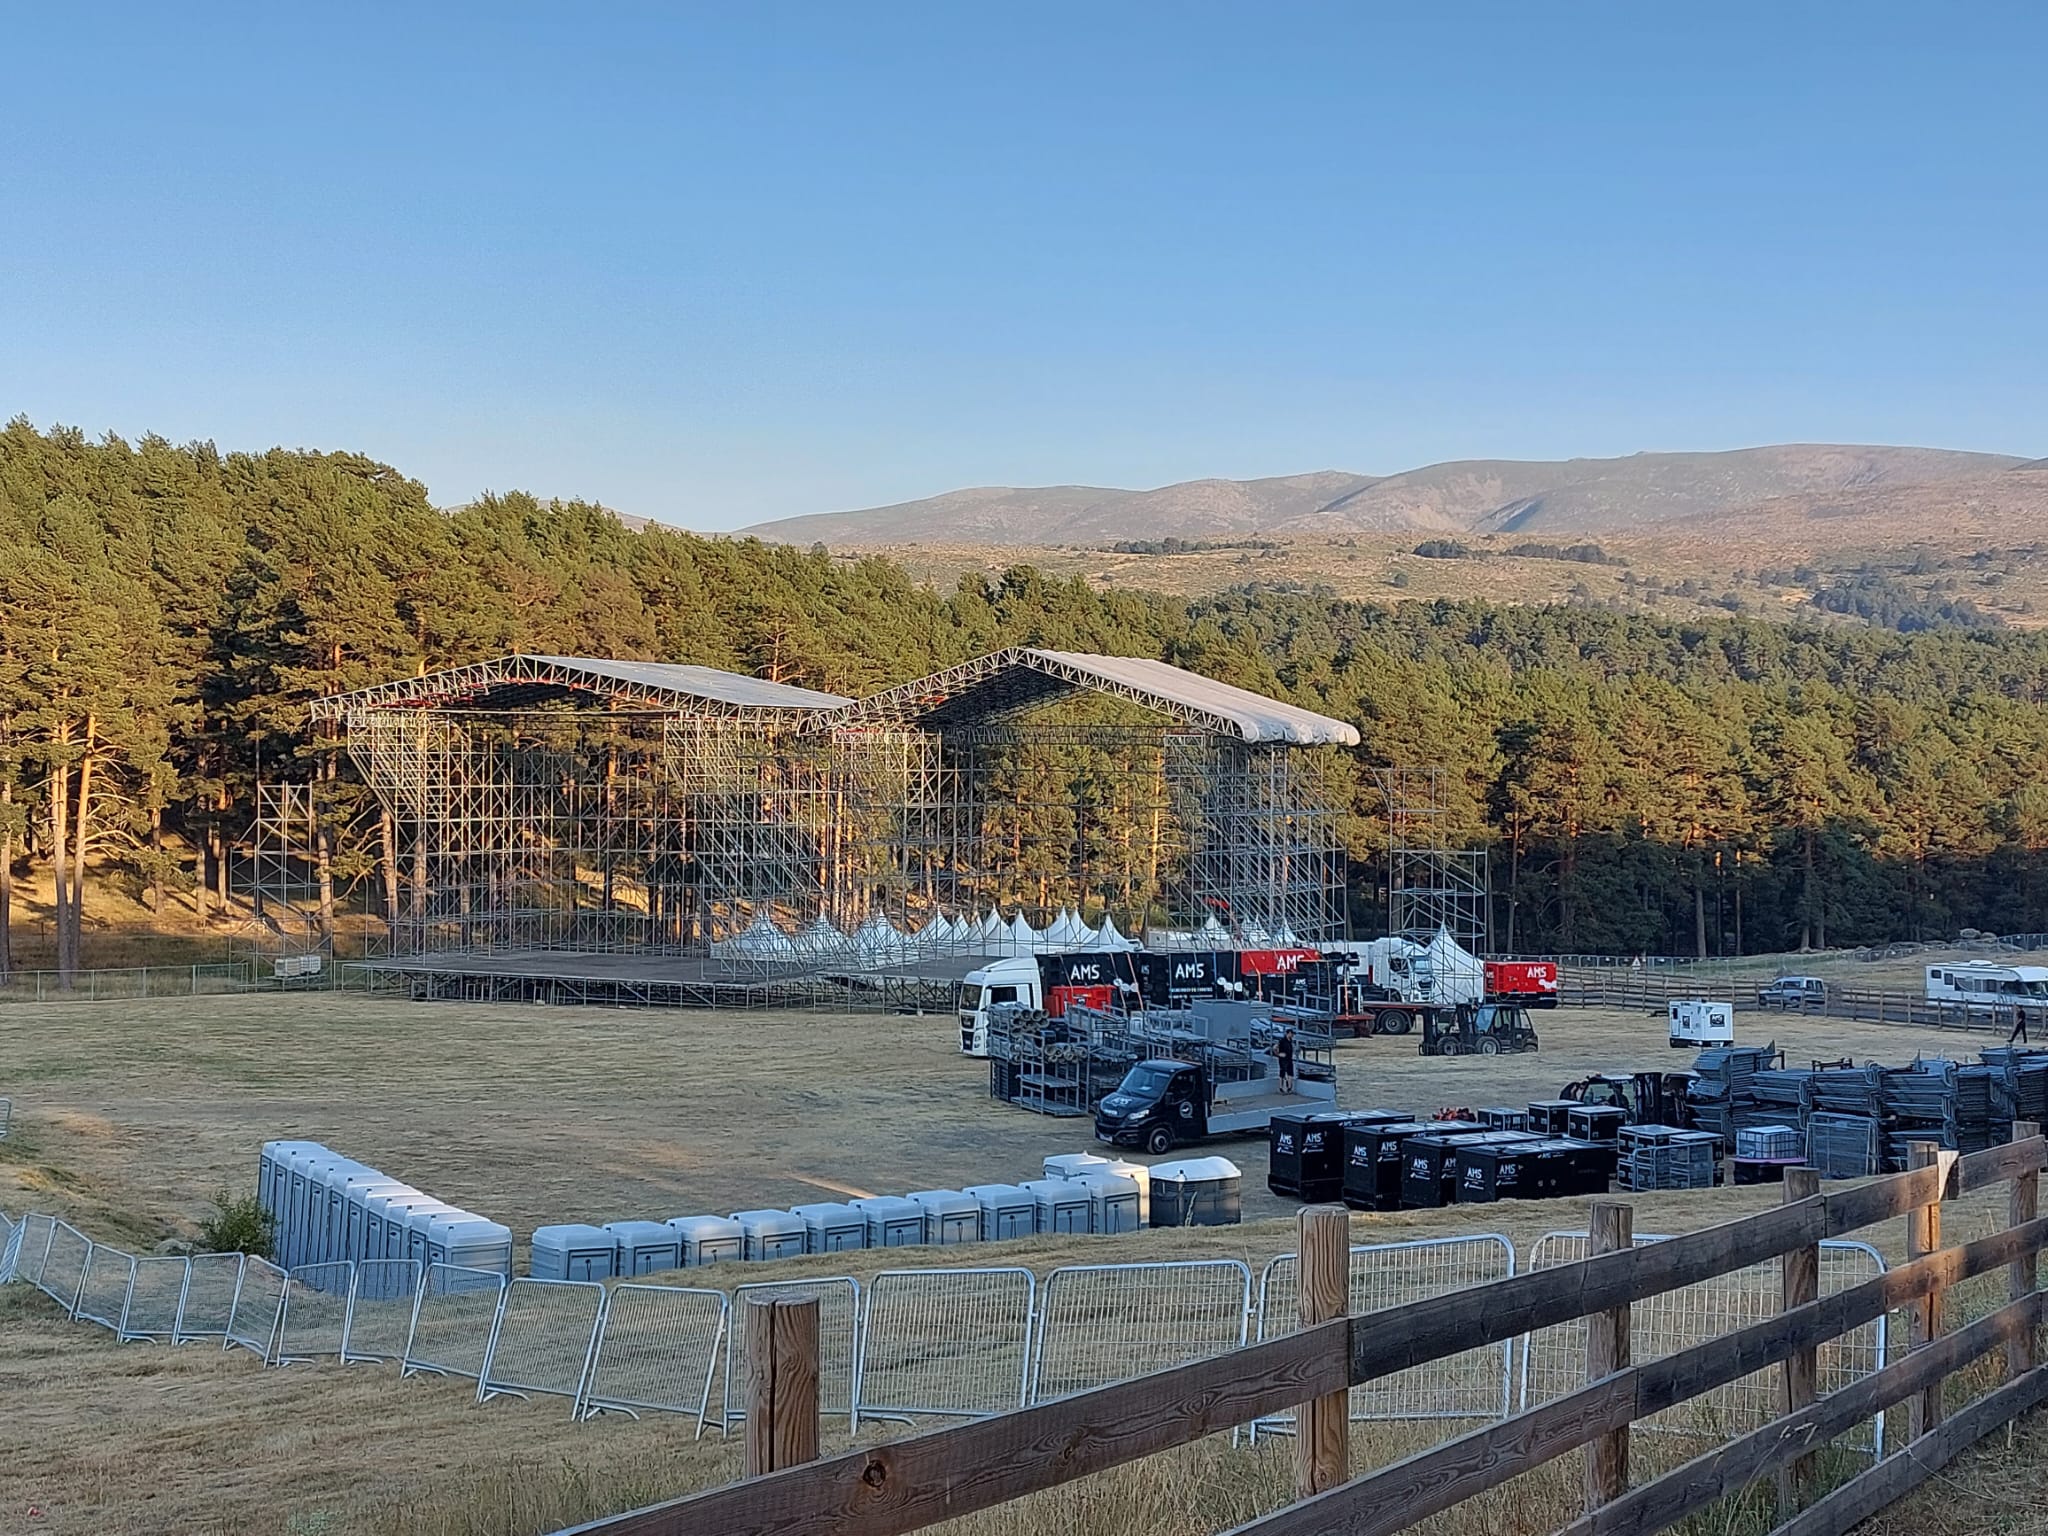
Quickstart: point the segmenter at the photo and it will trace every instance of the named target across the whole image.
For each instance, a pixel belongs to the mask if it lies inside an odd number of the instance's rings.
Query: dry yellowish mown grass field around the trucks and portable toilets
[[[1686,1061],[1645,1016],[1556,1012],[1538,1022],[1544,1049],[1534,1057],[1425,1061],[1403,1040],[1346,1044],[1341,1102],[1415,1112],[1520,1104],[1591,1069]],[[1898,1026],[1778,1016],[1747,1016],[1745,1034],[1751,1028],[1776,1036],[1792,1059],[1843,1051],[1903,1059],[1966,1044]],[[944,1018],[410,1006],[356,995],[14,1006],[0,1010],[0,1094],[16,1104],[14,1135],[0,1141],[0,1206],[53,1210],[92,1237],[145,1251],[166,1235],[188,1235],[215,1188],[252,1188],[264,1139],[315,1137],[524,1237],[547,1221],[1016,1180],[1034,1174],[1044,1153],[1090,1145],[1081,1122],[991,1104],[981,1063],[954,1047]],[[1266,1194],[1260,1145],[1221,1151],[1245,1169],[1243,1227],[1036,1239],[975,1257],[1044,1272],[1075,1260],[1217,1253],[1255,1268],[1290,1247],[1290,1206]],[[1686,1231],[1772,1200],[1774,1190],[1642,1196],[1636,1227]],[[1358,1241],[1505,1231],[1522,1247],[1577,1221],[1575,1204],[1501,1204],[1360,1217],[1354,1231]],[[1968,1237],[1991,1221],[1989,1206],[1958,1210],[1950,1233]],[[1901,1233],[1874,1237],[1896,1255]],[[754,1278],[752,1268],[731,1266],[719,1280]],[[848,1268],[879,1266],[819,1257],[774,1274]],[[459,1384],[397,1380],[391,1370],[260,1370],[246,1354],[115,1346],[18,1286],[0,1292],[0,1536],[512,1536],[705,1487],[737,1468],[733,1446],[717,1436],[698,1442],[694,1425],[674,1421],[571,1425],[559,1401],[473,1407]],[[1360,1462],[1389,1460],[1440,1432],[1362,1427]],[[2040,1434],[2023,1438],[2034,1444]],[[1194,1536],[1284,1501],[1286,1489],[1284,1446],[1210,1442],[958,1522],[958,1532]],[[1567,1462],[1432,1530],[1548,1530],[1569,1513],[1573,1489]],[[1997,1477],[1976,1477],[1978,1503],[1929,1501],[1921,1524],[1890,1530],[2042,1530],[1991,1520],[2003,1497],[1995,1489]],[[1958,1509],[1976,1524],[1956,1524]],[[1731,1522],[1714,1528],[1751,1530]]]

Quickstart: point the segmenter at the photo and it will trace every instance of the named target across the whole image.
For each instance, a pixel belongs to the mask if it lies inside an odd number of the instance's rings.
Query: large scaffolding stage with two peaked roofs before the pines
[[[788,999],[1034,942],[1341,936],[1313,750],[1356,729],[1163,662],[1010,649],[850,700],[510,655],[313,715],[395,829],[375,963],[487,995]]]

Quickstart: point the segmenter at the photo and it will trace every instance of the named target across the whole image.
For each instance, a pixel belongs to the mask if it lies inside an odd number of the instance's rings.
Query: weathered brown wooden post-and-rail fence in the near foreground
[[[578,1526],[569,1536],[897,1536],[940,1520],[1069,1483],[1090,1473],[1186,1446],[1294,1409],[1296,1501],[1239,1526],[1233,1536],[1393,1536],[1513,1477],[1581,1452],[1585,1513],[1565,1536],[1636,1536],[1665,1530],[1714,1499],[1776,1479],[1780,1536],[1835,1536],[1946,1466],[1960,1450],[2048,1401],[2040,1356],[2044,1294],[2038,1253],[2040,1126],[2015,1126],[2005,1147],[1958,1157],[1915,1143],[1915,1167],[1821,1194],[1796,1171],[1774,1210],[1720,1227],[1630,1245],[1626,1204],[1593,1204],[1595,1253],[1579,1264],[1520,1274],[1366,1317],[1343,1317],[1348,1219],[1333,1208],[1300,1214],[1300,1331],[1247,1350],[1044,1403],[1018,1413],[858,1448],[829,1460],[786,1464],[772,1446],[815,1446],[815,1360],[764,1352],[750,1401],[799,1423],[750,1432],[741,1483],[627,1516]],[[2001,1231],[1944,1245],[1942,1202],[2009,1184]],[[1819,1243],[1880,1221],[1907,1219],[1909,1260],[1858,1286],[1819,1294]],[[1679,1354],[1634,1364],[1628,1311],[1667,1290],[1753,1264],[1782,1262],[1784,1307]],[[2007,1270],[2011,1300],[1968,1327],[1946,1331],[1944,1292]],[[1876,1374],[1817,1397],[1823,1343],[1896,1309],[1911,1309],[1913,1348]],[[1352,1477],[1343,1434],[1346,1393],[1409,1366],[1587,1319],[1587,1380],[1575,1393]],[[801,1321],[760,1337],[803,1339]],[[815,1346],[813,1346],[815,1348]],[[1980,1356],[2003,1360],[2005,1382],[1944,1419],[1942,1386]],[[1696,1460],[1630,1487],[1630,1423],[1698,1399],[1769,1366],[1780,1368],[1782,1413]],[[1812,1452],[1831,1436],[1909,1403],[1911,1440],[1896,1454],[1810,1499]],[[801,1423],[809,1415],[811,1425]],[[752,1446],[760,1442],[758,1454]],[[776,1470],[770,1470],[776,1468]],[[1810,1501],[1808,1501],[1810,1499]]]

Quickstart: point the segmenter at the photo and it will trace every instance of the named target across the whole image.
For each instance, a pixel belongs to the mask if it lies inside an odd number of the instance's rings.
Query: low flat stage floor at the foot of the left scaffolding
[[[645,950],[444,950],[346,961],[377,989],[414,999],[530,1001],[598,1008],[909,1008],[950,1012],[961,977],[983,956],[915,965],[756,965]]]

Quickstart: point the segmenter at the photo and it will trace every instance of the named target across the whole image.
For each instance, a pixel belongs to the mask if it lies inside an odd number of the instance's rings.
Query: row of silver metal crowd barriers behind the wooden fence
[[[1636,1243],[1661,1237],[1640,1235]],[[1526,1268],[1585,1257],[1585,1233],[1546,1233]],[[1499,1233],[1352,1249],[1354,1315],[1505,1280],[1516,1249]],[[1821,1290],[1884,1272],[1866,1243],[1821,1245]],[[125,1341],[217,1343],[264,1364],[395,1364],[403,1376],[471,1382],[496,1397],[565,1399],[578,1419],[676,1413],[733,1430],[745,1417],[750,1298],[819,1303],[819,1409],[848,1432],[862,1421],[975,1419],[1274,1339],[1296,1327],[1296,1257],[1280,1253],[1253,1282],[1237,1260],[1081,1264],[1042,1282],[1022,1266],[883,1270],[700,1286],[506,1280],[420,1260],[358,1260],[281,1270],[260,1257],[135,1257],[45,1214],[0,1214],[0,1282],[41,1288],[70,1317]],[[1772,1317],[1776,1264],[1665,1292],[1632,1309],[1634,1360],[1647,1362]],[[1839,1391],[1886,1364],[1886,1319],[1821,1350],[1821,1389]],[[721,1391],[723,1380],[723,1391]],[[1352,1389],[1354,1421],[1503,1419],[1585,1380],[1585,1323],[1468,1350]],[[1759,1372],[1669,1409],[1647,1427],[1741,1434],[1776,1413],[1776,1376]],[[1683,1415],[1683,1419],[1679,1417]],[[1882,1454],[1882,1419],[1849,1448]],[[1292,1415],[1262,1419],[1288,1434]]]

